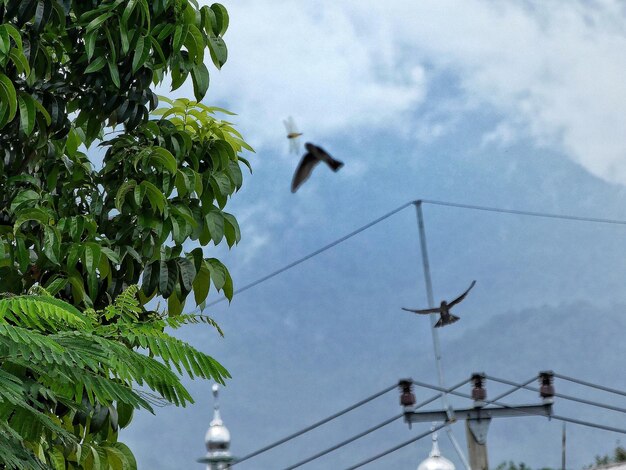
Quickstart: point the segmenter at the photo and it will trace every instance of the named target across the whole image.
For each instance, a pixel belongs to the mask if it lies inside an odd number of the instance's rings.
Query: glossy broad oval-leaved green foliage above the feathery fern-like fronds
[[[232,281],[199,248],[239,241],[224,212],[242,183],[238,153],[248,148],[219,108],[170,102],[148,120],[150,89],[166,71],[173,88],[192,76],[196,98],[208,85],[209,48],[226,60],[224,7],[186,0],[0,0],[0,276],[4,289],[35,282],[74,305],[102,307],[143,273],[145,298],[182,311],[209,282],[230,298]],[[87,72],[87,73],[85,73]],[[80,144],[105,126],[125,133],[102,145],[95,171]],[[169,246],[166,242],[170,241]]]

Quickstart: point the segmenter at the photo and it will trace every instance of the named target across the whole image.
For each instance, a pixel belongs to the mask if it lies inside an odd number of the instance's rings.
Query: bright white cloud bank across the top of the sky
[[[434,81],[452,74],[448,92],[466,118],[486,109],[502,118],[483,143],[528,136],[626,183],[626,32],[617,0],[225,4],[230,58],[213,72],[208,99],[240,113],[257,146],[286,153],[277,136],[287,115],[310,140],[380,129],[441,138],[455,116],[424,125],[419,110],[436,108]]]

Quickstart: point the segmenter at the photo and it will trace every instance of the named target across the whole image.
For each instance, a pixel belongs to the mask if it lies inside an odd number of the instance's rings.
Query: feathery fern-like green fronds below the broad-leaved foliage
[[[84,313],[41,291],[0,299],[0,417],[9,436],[0,441],[0,459],[13,462],[9,468],[37,468],[32,456],[23,461],[26,449],[55,468],[136,468],[117,434],[133,409],[152,411],[154,398],[135,384],[184,405],[191,396],[168,365],[192,378],[228,376],[214,359],[163,331],[203,317],[181,315],[174,323],[152,312],[140,320],[136,286],[105,309]]]

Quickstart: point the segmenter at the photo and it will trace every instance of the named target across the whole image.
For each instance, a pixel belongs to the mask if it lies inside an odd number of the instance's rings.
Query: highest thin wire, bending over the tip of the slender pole
[[[487,207],[487,206],[478,206],[478,205],[473,205],[473,204],[461,204],[461,203],[456,203],[456,202],[447,202],[447,201],[437,201],[434,199],[417,199],[415,201],[411,201],[411,202],[407,202],[406,204],[401,205],[400,207],[392,210],[391,212],[386,213],[385,215],[363,225],[362,227],[359,227],[358,229],[354,230],[353,232],[350,232],[349,234],[335,240],[334,242],[329,243],[328,245],[323,246],[322,248],[319,248],[318,250],[313,251],[312,253],[309,253],[308,255],[297,259],[296,261],[293,261],[289,264],[287,264],[286,266],[283,266],[280,269],[277,269],[276,271],[271,272],[270,274],[267,274],[266,276],[263,276],[259,279],[257,279],[256,281],[253,281],[249,284],[246,284],[245,286],[236,289],[233,292],[233,296],[240,294],[248,289],[251,289],[253,287],[256,287],[257,285],[268,281],[269,279],[272,279],[273,277],[278,276],[279,274],[282,274],[285,271],[288,271],[291,268],[294,268],[296,266],[298,266],[301,263],[304,263],[305,261],[339,245],[340,243],[354,237],[355,235],[358,235],[359,233],[367,230],[370,227],[373,227],[374,225],[382,222],[385,219],[388,219],[389,217],[391,217],[392,215],[402,211],[403,209],[406,209],[407,207],[409,207],[410,205],[414,205],[414,204],[432,204],[432,205],[436,205],[436,206],[447,206],[447,207],[456,207],[459,209],[471,209],[471,210],[479,210],[479,211],[486,211],[486,212],[497,212],[497,213],[502,213],[502,214],[514,214],[514,215],[525,215],[525,216],[529,216],[529,217],[542,217],[542,218],[549,218],[549,219],[560,219],[560,220],[571,220],[571,221],[575,221],[575,222],[589,222],[589,223],[603,223],[603,224],[612,224],[612,225],[626,225],[626,220],[618,220],[618,219],[604,219],[604,218],[598,218],[598,217],[583,217],[583,216],[576,216],[576,215],[569,215],[569,214],[551,214],[551,213],[547,213],[547,212],[535,212],[535,211],[526,211],[526,210],[518,210],[518,209],[504,209],[504,208],[500,208],[500,207]],[[213,302],[210,302],[208,304],[206,304],[206,307],[211,307],[213,305],[216,305],[220,302],[224,302],[226,300],[225,297],[219,298],[214,300]],[[195,310],[193,310],[191,313],[194,312],[199,312],[203,310],[202,308],[197,308]]]

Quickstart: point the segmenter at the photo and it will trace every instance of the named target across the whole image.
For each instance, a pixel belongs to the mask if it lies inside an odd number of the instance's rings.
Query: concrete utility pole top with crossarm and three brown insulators
[[[485,374],[472,374],[471,398],[474,400],[472,408],[453,410],[451,408],[437,411],[415,411],[415,395],[412,392],[413,381],[403,379],[398,383],[402,391],[400,404],[404,407],[404,421],[409,423],[422,423],[432,421],[454,422],[465,420],[467,434],[467,448],[469,452],[469,466],[472,470],[489,470],[487,458],[487,431],[492,418],[528,417],[528,416],[551,416],[554,402],[554,386],[552,385],[552,372],[540,372],[539,381],[541,387],[539,394],[542,403],[537,405],[499,405],[497,402],[504,395],[499,396],[492,402],[487,398],[484,388]],[[517,390],[513,389],[512,391]],[[511,392],[512,392],[511,391]],[[509,392],[509,393],[511,393]],[[505,394],[505,395],[508,395]],[[493,403],[495,406],[486,406]],[[452,418],[450,418],[452,414]]]

